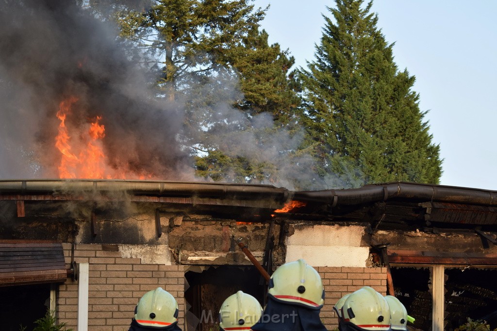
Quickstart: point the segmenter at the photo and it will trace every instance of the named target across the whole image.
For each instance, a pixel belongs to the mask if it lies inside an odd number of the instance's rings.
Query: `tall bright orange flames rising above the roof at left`
[[[71,114],[71,110],[77,101],[77,97],[70,96],[61,101],[59,111],[57,112],[57,118],[61,122],[59,124],[59,133],[55,138],[55,146],[62,153],[61,163],[58,167],[59,177],[104,178],[105,155],[101,139],[105,136],[105,127],[99,124],[102,118],[97,116],[89,124],[86,132],[76,132],[79,133],[80,141],[74,141],[69,134],[66,119]],[[72,149],[78,146],[80,150],[76,154]]]

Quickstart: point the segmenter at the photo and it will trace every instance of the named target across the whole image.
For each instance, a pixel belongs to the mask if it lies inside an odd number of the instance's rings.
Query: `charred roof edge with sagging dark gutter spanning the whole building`
[[[497,191],[386,183],[357,189],[293,192],[269,185],[127,180],[4,180],[0,203],[17,203],[17,214],[40,201],[103,205],[128,201],[177,205],[222,217],[264,222],[285,203],[303,202],[277,217],[369,223],[373,229],[476,229],[496,231]],[[8,202],[11,201],[11,202]]]

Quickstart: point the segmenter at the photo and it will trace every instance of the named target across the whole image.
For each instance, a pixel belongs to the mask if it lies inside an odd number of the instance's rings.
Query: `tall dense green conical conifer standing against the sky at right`
[[[431,142],[415,77],[399,71],[377,28],[372,1],[335,0],[316,60],[302,69],[304,118],[315,169],[343,187],[391,181],[438,184],[439,145]],[[336,183],[334,184],[336,185]]]

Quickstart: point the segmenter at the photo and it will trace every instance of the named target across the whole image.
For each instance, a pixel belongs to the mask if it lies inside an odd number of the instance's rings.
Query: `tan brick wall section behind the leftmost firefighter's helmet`
[[[63,244],[67,267],[71,244]],[[127,331],[138,300],[157,287],[176,298],[179,326],[184,329],[184,271],[182,265],[142,264],[141,259],[123,259],[118,251],[97,244],[77,244],[77,263],[89,263],[88,331]],[[68,278],[59,286],[59,323],[77,329],[78,282]]]

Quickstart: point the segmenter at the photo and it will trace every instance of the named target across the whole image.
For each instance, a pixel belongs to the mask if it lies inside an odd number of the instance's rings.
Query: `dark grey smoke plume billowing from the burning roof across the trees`
[[[64,130],[71,153],[88,144],[83,132],[96,119],[105,128],[103,178],[199,180],[188,145],[269,164],[272,173],[253,184],[341,186],[334,177],[320,180],[308,155],[288,157],[303,132],[275,131],[270,115],[248,116],[231,106],[243,98],[233,72],[199,84],[195,93],[206,99],[228,96],[210,109],[197,107],[185,127],[185,105],[154,97],[154,77],[126,57],[116,36],[115,27],[73,0],[0,0],[0,180],[60,177],[57,113],[70,104]],[[203,101],[197,100],[209,104]],[[234,177],[228,173],[225,181]]]

